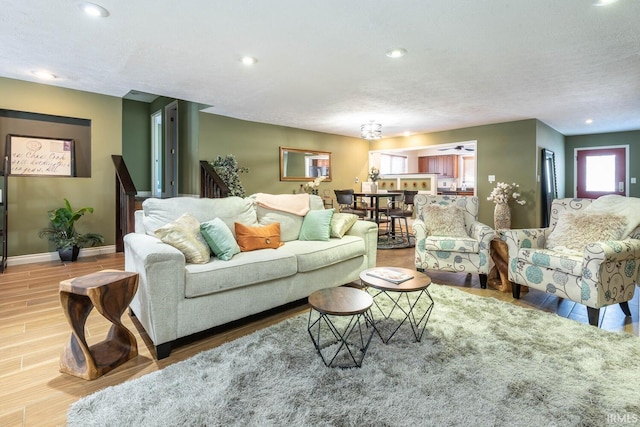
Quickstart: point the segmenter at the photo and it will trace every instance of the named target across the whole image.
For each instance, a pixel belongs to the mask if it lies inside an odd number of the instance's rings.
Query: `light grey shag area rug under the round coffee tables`
[[[327,368],[308,314],[71,406],[70,426],[606,426],[640,423],[640,340],[431,285],[421,342],[374,336]],[[424,300],[426,303],[427,300]],[[374,315],[376,313],[374,312]]]

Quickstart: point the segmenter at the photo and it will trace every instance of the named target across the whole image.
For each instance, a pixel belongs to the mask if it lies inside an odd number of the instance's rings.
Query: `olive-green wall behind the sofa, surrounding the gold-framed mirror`
[[[249,168],[248,174],[240,175],[247,195],[299,190],[301,182],[280,181],[279,147],[331,152],[332,181],[320,184],[320,194],[326,190],[334,197],[334,189],[359,190],[355,178],[362,181],[367,176],[365,140],[200,113],[200,159],[233,154],[240,166]]]

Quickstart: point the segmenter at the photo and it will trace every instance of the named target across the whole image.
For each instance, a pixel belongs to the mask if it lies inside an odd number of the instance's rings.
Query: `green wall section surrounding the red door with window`
[[[567,136],[565,137],[565,193],[567,194],[567,197],[573,197],[575,195],[574,150],[576,148],[593,148],[605,145],[628,145],[629,177],[635,177],[637,180],[640,180],[640,130]],[[640,197],[640,182],[636,182],[636,184],[629,184],[629,196]]]

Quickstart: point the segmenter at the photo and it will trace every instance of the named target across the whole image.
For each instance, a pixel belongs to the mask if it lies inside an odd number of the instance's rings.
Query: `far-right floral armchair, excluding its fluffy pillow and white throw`
[[[600,308],[620,304],[631,316],[627,301],[633,298],[640,273],[640,226],[619,240],[594,241],[581,251],[547,248],[549,236],[565,212],[584,212],[592,199],[556,199],[548,228],[504,230],[509,248],[509,280],[514,298],[520,286],[557,295],[587,307],[589,323],[598,326]]]

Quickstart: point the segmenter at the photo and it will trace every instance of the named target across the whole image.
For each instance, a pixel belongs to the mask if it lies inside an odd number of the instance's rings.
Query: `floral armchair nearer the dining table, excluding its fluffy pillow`
[[[425,206],[456,205],[464,212],[466,236],[449,237],[429,234]],[[417,270],[440,270],[460,273],[477,273],[480,286],[487,287],[487,274],[493,267],[489,256],[493,228],[478,221],[478,198],[469,196],[431,196],[418,194],[414,198],[416,220],[413,232],[416,236],[415,266]]]

